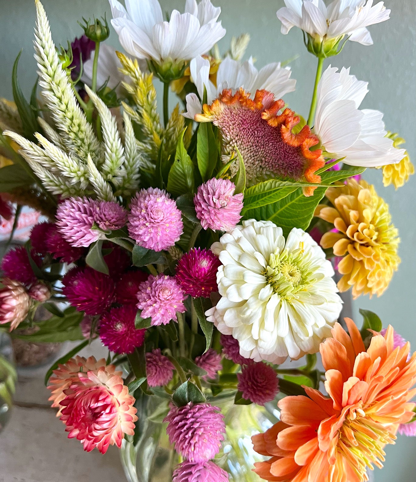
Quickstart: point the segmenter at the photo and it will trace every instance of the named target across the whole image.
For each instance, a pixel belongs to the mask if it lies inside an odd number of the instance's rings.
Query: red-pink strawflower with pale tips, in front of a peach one
[[[109,370],[107,370],[109,368]],[[78,381],[65,390],[60,419],[68,438],[76,438],[90,452],[105,454],[109,445],[121,447],[124,435],[134,435],[137,410],[134,398],[112,365],[78,374]]]

